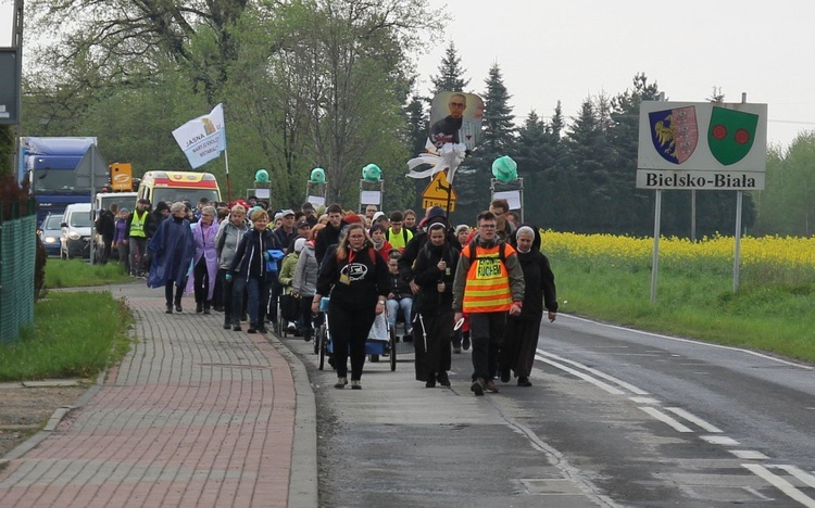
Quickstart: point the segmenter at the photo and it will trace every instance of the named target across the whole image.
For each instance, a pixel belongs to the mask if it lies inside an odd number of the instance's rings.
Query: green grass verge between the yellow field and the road
[[[815,294],[810,287],[742,284],[711,274],[651,271],[550,257],[561,312],[638,330],[686,336],[815,363]]]

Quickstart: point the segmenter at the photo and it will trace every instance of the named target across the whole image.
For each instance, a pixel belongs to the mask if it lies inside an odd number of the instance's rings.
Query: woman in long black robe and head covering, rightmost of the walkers
[[[506,318],[499,359],[501,381],[510,382],[510,370],[513,370],[518,378],[518,386],[531,386],[529,374],[538,347],[543,307],[549,312],[549,320],[554,321],[557,315],[557,296],[549,258],[540,252],[538,228],[528,225],[518,228],[515,231],[515,245],[526,289],[521,315]]]

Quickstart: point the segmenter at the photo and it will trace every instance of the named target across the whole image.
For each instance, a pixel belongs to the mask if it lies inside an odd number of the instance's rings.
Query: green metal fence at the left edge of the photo
[[[0,202],[0,342],[16,341],[20,328],[34,322],[35,208],[34,201],[28,206]]]

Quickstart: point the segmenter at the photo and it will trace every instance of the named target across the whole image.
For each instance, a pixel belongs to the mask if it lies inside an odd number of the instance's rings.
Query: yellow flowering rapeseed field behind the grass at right
[[[594,268],[650,270],[653,238],[614,234],[577,234],[541,231],[544,254],[584,262]],[[660,269],[689,276],[730,276],[736,242],[714,236],[695,243],[682,238],[660,239]],[[815,239],[742,237],[742,281],[753,284],[804,285],[815,283]]]

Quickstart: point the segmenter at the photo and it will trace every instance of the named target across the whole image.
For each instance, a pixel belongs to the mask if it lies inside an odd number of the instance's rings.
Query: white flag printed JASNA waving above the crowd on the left
[[[217,158],[226,150],[223,105],[218,104],[209,115],[199,116],[178,127],[173,131],[173,137],[193,169]]]

